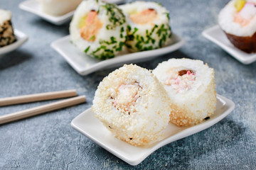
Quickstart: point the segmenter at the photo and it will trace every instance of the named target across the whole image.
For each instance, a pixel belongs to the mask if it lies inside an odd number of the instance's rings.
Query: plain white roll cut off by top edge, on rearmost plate
[[[63,16],[65,13],[74,11],[82,0],[38,0],[43,13],[51,16]]]

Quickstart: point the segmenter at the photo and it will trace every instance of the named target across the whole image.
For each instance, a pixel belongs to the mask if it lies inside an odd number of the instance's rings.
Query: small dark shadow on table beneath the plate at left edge
[[[14,52],[9,52],[5,55],[0,56],[0,70],[8,69],[9,67],[14,67],[26,60],[30,60],[32,55],[23,50],[15,50]]]

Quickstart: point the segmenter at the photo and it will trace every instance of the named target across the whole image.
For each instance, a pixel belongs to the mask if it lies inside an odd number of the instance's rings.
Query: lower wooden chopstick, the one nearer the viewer
[[[38,114],[46,113],[46,112],[49,112],[49,111],[55,111],[55,110],[58,110],[60,108],[66,108],[66,107],[69,107],[69,106],[74,106],[74,105],[77,105],[79,103],[84,103],[85,101],[86,101],[85,96],[77,96],[77,97],[65,99],[63,101],[57,101],[57,102],[54,102],[54,103],[46,104],[46,105],[43,105],[43,106],[38,106],[38,107],[35,107],[35,108],[29,108],[29,109],[24,110],[24,111],[18,111],[16,113],[1,115],[0,116],[0,125],[4,124],[4,123],[9,123],[11,121],[19,120],[19,119],[22,119],[22,118],[28,118],[28,117],[31,117],[33,115],[38,115]]]

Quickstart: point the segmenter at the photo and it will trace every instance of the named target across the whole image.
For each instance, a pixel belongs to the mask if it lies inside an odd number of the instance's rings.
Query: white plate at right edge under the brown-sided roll
[[[212,28],[208,28],[207,30],[203,31],[203,36],[211,40],[215,44],[219,45],[223,50],[228,52],[230,55],[235,57],[238,61],[242,62],[243,64],[250,64],[256,61],[256,53],[248,54],[239,50],[235,47],[226,37],[223,30],[221,30],[220,26],[213,26]]]

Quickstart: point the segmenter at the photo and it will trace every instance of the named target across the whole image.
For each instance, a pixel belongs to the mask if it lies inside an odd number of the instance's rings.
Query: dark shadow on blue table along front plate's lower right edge
[[[206,130],[156,150],[138,167],[151,164],[156,159],[156,162],[160,162],[159,164],[168,162],[167,166],[164,167],[166,169],[175,169],[177,167],[191,169],[191,163],[196,164],[198,159],[206,157],[220,158],[221,153],[228,152],[227,148],[241,142],[241,136],[244,132],[245,128],[242,125],[225,118]],[[218,153],[220,150],[221,153]],[[214,162],[214,160],[211,160],[211,162]]]

